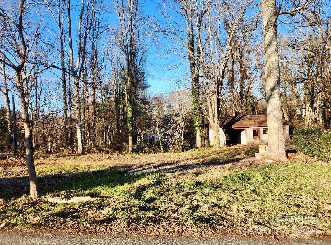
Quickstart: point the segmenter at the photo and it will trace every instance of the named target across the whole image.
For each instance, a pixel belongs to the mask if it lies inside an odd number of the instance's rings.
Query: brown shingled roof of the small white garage
[[[289,122],[283,119],[283,124],[289,124]],[[220,127],[222,128],[242,128],[267,125],[267,115],[251,115],[237,117],[226,116],[220,118]]]

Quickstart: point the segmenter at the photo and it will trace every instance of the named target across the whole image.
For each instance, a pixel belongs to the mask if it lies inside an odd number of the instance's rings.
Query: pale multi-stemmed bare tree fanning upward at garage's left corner
[[[199,57],[202,67],[202,98],[204,114],[208,118],[212,126],[214,134],[214,147],[220,147],[219,130],[221,123],[220,109],[224,105],[224,97],[222,94],[223,83],[225,79],[225,71],[228,62],[238,45],[241,43],[233,42],[233,38],[237,34],[241,19],[250,2],[240,1],[233,3],[214,4],[213,1],[199,3],[195,1],[195,9],[197,12],[197,20],[195,22],[198,46],[201,50]],[[221,35],[220,28],[224,27],[224,16],[227,16],[228,26],[227,34]],[[220,20],[223,20],[220,21]],[[222,140],[225,144],[224,140]],[[222,145],[224,146],[224,145]]]

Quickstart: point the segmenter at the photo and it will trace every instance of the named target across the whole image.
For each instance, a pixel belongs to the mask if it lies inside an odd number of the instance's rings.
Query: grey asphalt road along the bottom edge
[[[46,233],[0,232],[1,245],[330,245],[331,239],[268,240],[225,236],[213,239],[176,237],[71,236]]]

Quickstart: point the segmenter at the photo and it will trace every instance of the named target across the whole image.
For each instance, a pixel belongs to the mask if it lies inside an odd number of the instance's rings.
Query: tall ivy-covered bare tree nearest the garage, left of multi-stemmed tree
[[[163,36],[171,39],[173,43],[174,52],[178,52],[183,49],[187,52],[188,66],[191,78],[191,95],[192,95],[192,108],[193,108],[193,126],[195,130],[195,143],[196,147],[201,147],[201,99],[200,99],[200,64],[199,58],[201,50],[196,40],[196,30],[194,28],[195,21],[202,21],[202,19],[196,20],[196,11],[194,9],[193,0],[174,0],[163,2],[165,8],[160,8],[160,14],[165,20],[166,24],[161,21],[155,21],[155,24],[151,24],[151,27]],[[180,21],[175,17],[179,17]],[[201,18],[201,17],[200,17]],[[185,24],[184,24],[185,23]],[[184,54],[179,53],[180,56]]]

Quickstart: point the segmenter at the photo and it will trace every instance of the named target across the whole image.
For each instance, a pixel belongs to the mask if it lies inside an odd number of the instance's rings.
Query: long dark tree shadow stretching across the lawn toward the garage
[[[233,154],[233,156],[236,155],[240,155],[240,152]],[[231,157],[233,156],[231,155]],[[189,157],[178,162],[143,165],[137,169],[135,169],[136,166],[134,165],[127,165],[124,170],[119,167],[110,167],[98,171],[39,176],[39,193],[41,196],[45,196],[47,193],[54,194],[56,192],[59,194],[59,192],[73,190],[75,195],[85,195],[87,193],[91,196],[102,196],[102,193],[106,190],[107,196],[110,196],[117,191],[121,191],[118,190],[121,186],[135,183],[145,177],[146,174],[154,172],[183,172],[204,166],[221,166],[242,160],[240,158],[220,159],[221,157],[219,152],[212,152],[194,159]],[[188,163],[192,160],[197,160],[198,163]],[[19,198],[24,194],[29,194],[28,177],[0,178],[0,198],[10,200]]]

